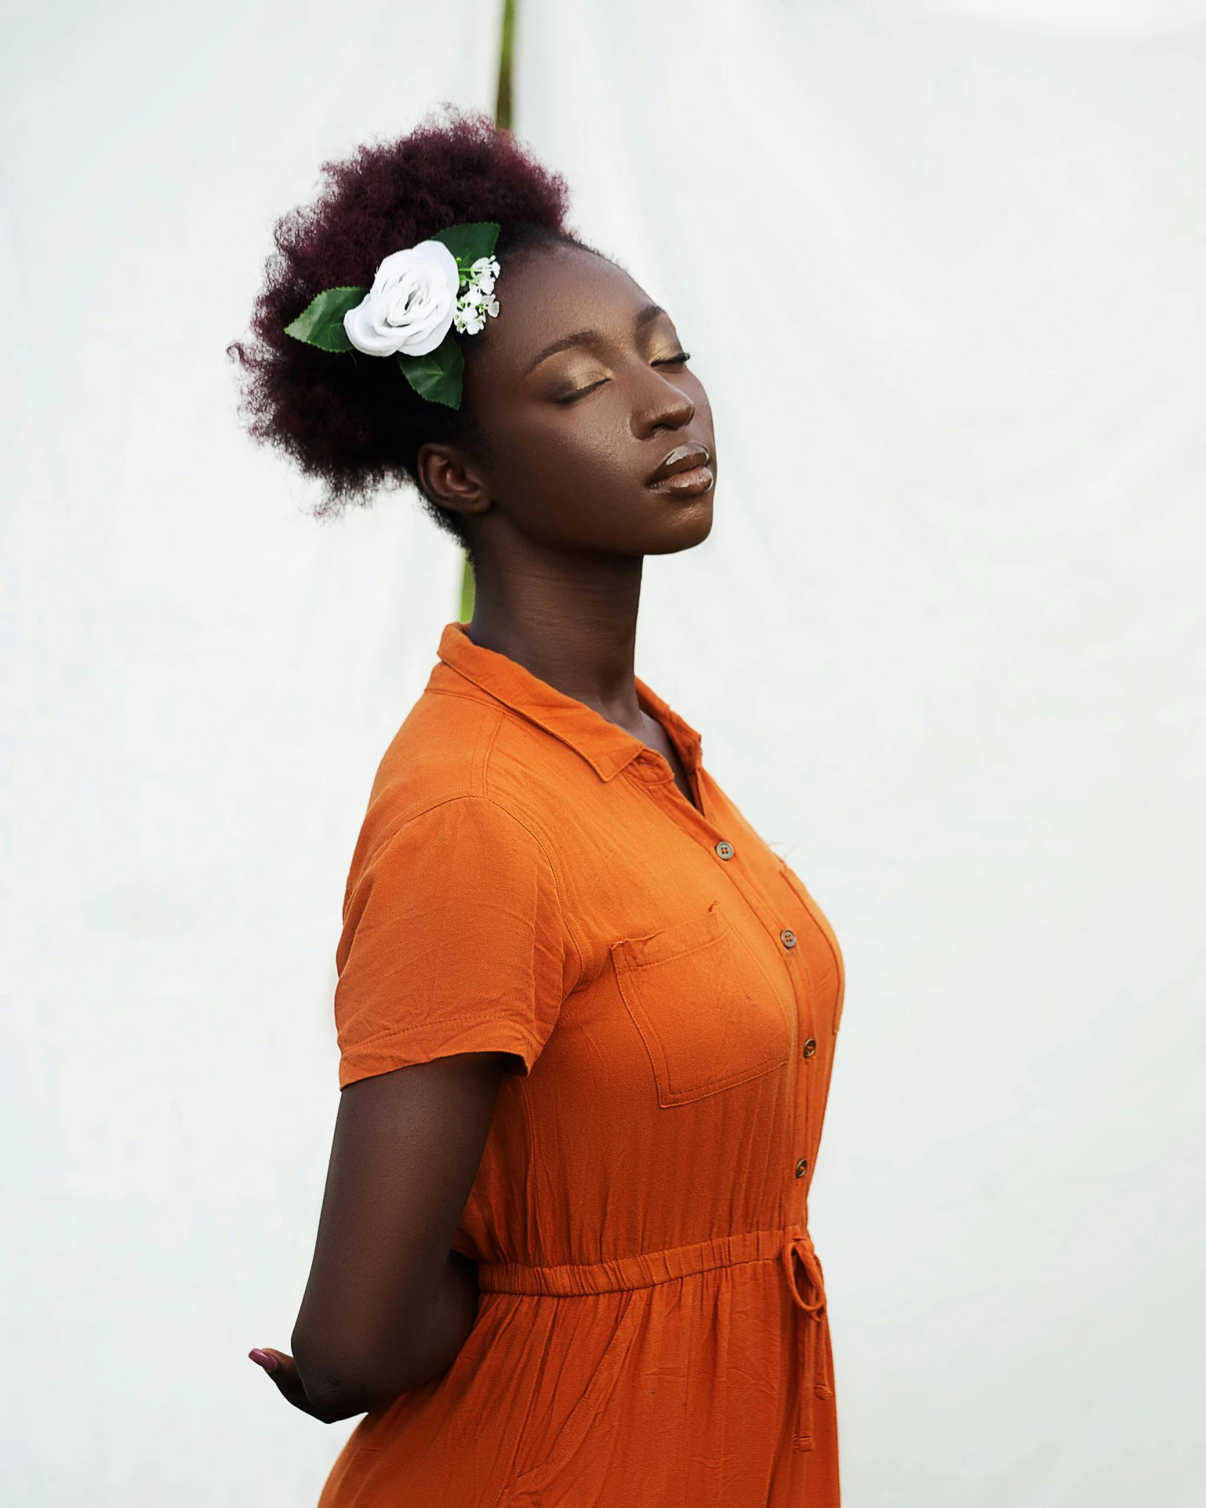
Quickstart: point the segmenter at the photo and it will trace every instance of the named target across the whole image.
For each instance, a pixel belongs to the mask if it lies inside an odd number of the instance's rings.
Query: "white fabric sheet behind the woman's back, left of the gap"
[[[5,1503],[305,1508],[347,1434],[246,1353],[297,1312],[351,844],[460,561],[404,495],[315,523],[225,347],[324,158],[493,104],[496,12],[6,26]]]

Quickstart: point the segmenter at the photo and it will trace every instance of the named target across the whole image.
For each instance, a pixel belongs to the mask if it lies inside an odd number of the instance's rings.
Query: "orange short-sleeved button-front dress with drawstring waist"
[[[837,1508],[807,1231],[843,967],[638,682],[665,759],[460,624],[348,878],[341,1083],[502,1050],[455,1247],[478,1316],[320,1508]]]

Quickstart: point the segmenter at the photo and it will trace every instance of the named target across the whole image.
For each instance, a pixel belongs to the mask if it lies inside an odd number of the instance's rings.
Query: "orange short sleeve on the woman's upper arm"
[[[552,866],[502,807],[412,817],[350,878],[336,962],[341,1087],[451,1053],[516,1053],[556,1025],[564,926]]]

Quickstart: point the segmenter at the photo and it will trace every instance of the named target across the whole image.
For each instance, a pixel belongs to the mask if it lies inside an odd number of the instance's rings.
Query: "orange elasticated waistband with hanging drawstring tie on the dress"
[[[529,1267],[523,1262],[481,1262],[478,1288],[482,1292],[540,1294],[573,1298],[583,1294],[618,1294],[632,1288],[651,1288],[677,1277],[690,1277],[721,1267],[748,1262],[782,1264],[787,1286],[796,1306],[796,1344],[799,1357],[796,1422],[793,1445],[813,1449],[813,1399],[832,1398],[828,1374],[825,1282],[803,1224],[782,1231],[742,1231],[736,1235],[675,1246],[663,1252],[639,1252],[611,1262],[571,1262],[555,1267]]]

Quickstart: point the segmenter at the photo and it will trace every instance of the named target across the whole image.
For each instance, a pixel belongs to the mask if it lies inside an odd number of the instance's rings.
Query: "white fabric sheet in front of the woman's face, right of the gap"
[[[850,1508],[1206,1502],[1206,15],[1088,9],[522,12],[718,410],[642,674],[844,944]]]

